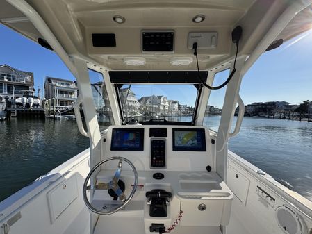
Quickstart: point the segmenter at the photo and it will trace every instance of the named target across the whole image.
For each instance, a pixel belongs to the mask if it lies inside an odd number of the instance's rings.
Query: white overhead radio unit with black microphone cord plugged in
[[[214,49],[217,47],[217,33],[188,33],[188,49],[197,42],[197,49]]]

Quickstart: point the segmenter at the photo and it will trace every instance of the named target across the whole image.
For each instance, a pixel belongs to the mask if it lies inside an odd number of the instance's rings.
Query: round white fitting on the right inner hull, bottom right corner
[[[287,206],[279,206],[275,210],[277,224],[286,234],[306,234],[306,226],[301,217]]]

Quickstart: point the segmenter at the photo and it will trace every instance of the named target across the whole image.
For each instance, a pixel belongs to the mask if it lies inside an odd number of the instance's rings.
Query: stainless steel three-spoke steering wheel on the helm
[[[99,166],[101,166],[102,164],[109,162],[111,160],[119,160],[115,175],[112,178],[112,180],[108,183],[98,183],[97,185],[88,185],[88,181],[89,181],[91,175],[93,174],[93,172],[95,172],[95,170],[97,168],[99,168]],[[133,170],[133,174],[134,174],[133,189],[132,189],[131,194],[129,195],[128,198],[126,198],[126,195],[124,195],[124,192],[122,192],[122,190],[120,189],[120,187],[118,185],[118,181],[120,179],[120,174],[122,172],[122,162],[123,161],[130,165],[130,167]],[[134,193],[136,192],[137,185],[138,185],[138,172],[136,171],[136,167],[134,167],[132,162],[130,162],[128,159],[122,158],[122,157],[111,157],[111,158],[108,158],[106,160],[99,162],[97,165],[95,165],[95,167],[93,167],[90,170],[88,176],[85,178],[85,182],[83,183],[83,201],[85,202],[85,205],[89,208],[89,210],[91,210],[92,212],[95,212],[98,215],[112,215],[113,213],[117,212],[118,210],[121,210],[122,208],[124,208],[124,206],[126,206],[126,204],[129,203],[129,201],[132,199]],[[123,203],[120,206],[117,206],[116,208],[113,208],[112,210],[109,210],[109,211],[103,211],[103,210],[99,210],[99,209],[95,208],[88,201],[87,190],[110,190],[110,189],[113,190],[115,192],[115,194],[117,194],[117,197],[119,197],[120,201],[123,201]]]

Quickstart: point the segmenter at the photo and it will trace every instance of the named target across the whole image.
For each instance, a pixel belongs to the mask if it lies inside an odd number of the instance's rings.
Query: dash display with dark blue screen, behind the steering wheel
[[[111,151],[143,151],[144,128],[113,128]]]

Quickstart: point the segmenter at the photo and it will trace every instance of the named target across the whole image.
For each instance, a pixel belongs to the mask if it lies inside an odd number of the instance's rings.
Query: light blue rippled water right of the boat
[[[312,122],[245,117],[229,149],[312,201]]]

